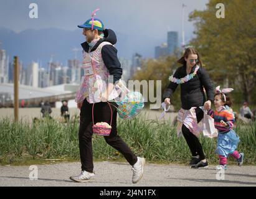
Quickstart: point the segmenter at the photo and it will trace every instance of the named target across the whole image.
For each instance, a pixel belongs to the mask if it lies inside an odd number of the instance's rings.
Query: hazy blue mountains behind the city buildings
[[[165,39],[154,38],[151,35],[130,35],[116,32],[118,39],[115,45],[118,57],[131,59],[134,53],[140,53],[144,58],[154,57],[154,47],[160,45]],[[0,28],[0,49],[5,49],[10,61],[17,55],[26,67],[32,61],[39,62],[41,67],[53,55],[53,61],[67,65],[67,60],[75,57],[72,49],[78,49],[77,58],[82,58],[82,47],[85,37],[82,30],[27,29],[14,32],[10,29]]]

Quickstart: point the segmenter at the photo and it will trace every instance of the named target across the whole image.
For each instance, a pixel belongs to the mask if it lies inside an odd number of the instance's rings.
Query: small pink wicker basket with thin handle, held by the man
[[[108,103],[108,106],[110,106],[110,103]],[[111,132],[111,129],[112,129],[112,127],[111,127],[111,124],[112,124],[112,109],[111,109],[111,106],[110,106],[111,120],[110,120],[110,125],[109,126],[105,126],[102,123],[94,124],[93,108],[94,108],[94,104],[92,105],[92,123],[93,123],[92,130],[93,130],[93,134],[95,134],[97,136],[109,136],[110,132]]]

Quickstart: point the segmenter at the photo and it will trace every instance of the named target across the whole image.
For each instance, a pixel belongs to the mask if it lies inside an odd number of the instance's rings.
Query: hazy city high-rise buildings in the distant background
[[[159,58],[173,54],[176,50],[180,50],[178,47],[178,32],[169,31],[166,33],[167,42],[161,44],[161,46],[155,47],[155,57]],[[35,62],[31,60],[29,64],[24,67],[22,60],[19,60],[20,65],[20,78],[19,82],[22,85],[30,85],[34,88],[45,88],[48,86],[62,85],[64,83],[79,84],[80,78],[83,75],[83,69],[81,68],[81,60],[77,58],[77,52],[79,49],[74,48],[73,59],[68,59],[65,64],[58,61],[54,61],[54,55],[50,55],[50,60],[47,65],[43,65],[38,60]],[[0,52],[0,83],[12,83],[12,62],[9,62],[9,56],[6,55],[6,50]],[[126,59],[119,57],[121,67],[123,68],[123,80],[128,81],[136,70],[141,69],[141,60],[143,56],[140,53],[134,53],[132,59]]]

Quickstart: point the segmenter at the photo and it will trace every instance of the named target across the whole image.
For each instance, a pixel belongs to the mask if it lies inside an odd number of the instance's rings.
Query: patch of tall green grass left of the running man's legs
[[[56,123],[53,119],[28,124],[13,123],[5,118],[0,121],[0,155],[31,155],[32,157],[79,157],[78,121]]]

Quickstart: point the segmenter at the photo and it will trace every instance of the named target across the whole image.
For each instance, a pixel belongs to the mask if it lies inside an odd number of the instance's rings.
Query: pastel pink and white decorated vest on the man
[[[88,103],[98,103],[101,101],[102,93],[108,88],[108,78],[110,73],[102,59],[102,47],[112,45],[110,42],[102,42],[93,52],[83,51],[83,70],[80,88],[77,91],[75,102],[81,103],[85,98]],[[113,78],[112,78],[113,81]],[[112,82],[113,83],[113,82]],[[118,97],[118,93],[113,91],[108,94],[108,101]]]

